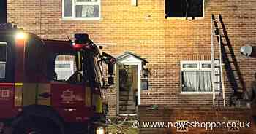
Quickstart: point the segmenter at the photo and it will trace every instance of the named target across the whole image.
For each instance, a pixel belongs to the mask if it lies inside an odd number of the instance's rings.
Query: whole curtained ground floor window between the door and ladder
[[[215,74],[219,68],[215,68]],[[211,61],[181,61],[181,93],[212,92]],[[218,82],[214,76],[214,82]],[[218,87],[214,88],[219,91]]]

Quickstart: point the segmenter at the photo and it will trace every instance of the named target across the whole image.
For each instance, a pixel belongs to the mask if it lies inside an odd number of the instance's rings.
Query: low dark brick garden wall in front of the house
[[[254,111],[255,112],[255,111]],[[252,117],[252,111],[249,109],[172,109],[172,108],[164,108],[160,107],[159,109],[150,109],[148,106],[140,106],[139,107],[139,122],[140,122],[140,134],[173,134],[173,133],[188,133],[188,134],[206,134],[206,133],[214,133],[214,134],[222,134],[222,133],[239,133],[239,134],[254,134],[256,133],[255,121]],[[159,116],[161,115],[161,116]],[[254,114],[255,115],[255,114]],[[235,131],[231,131],[227,128],[227,122],[241,122],[241,127]],[[187,132],[178,132],[176,127],[171,127],[169,124],[169,128],[167,127],[167,123],[175,123],[175,122],[225,122],[219,128],[215,127],[213,130],[206,127],[189,127]],[[164,128],[146,128],[143,127],[143,123],[145,122],[165,122]],[[243,125],[243,122],[250,122],[249,127]],[[145,124],[144,124],[145,125]],[[202,125],[203,126],[203,125]],[[225,128],[226,126],[226,128]],[[228,125],[230,126],[230,125]]]

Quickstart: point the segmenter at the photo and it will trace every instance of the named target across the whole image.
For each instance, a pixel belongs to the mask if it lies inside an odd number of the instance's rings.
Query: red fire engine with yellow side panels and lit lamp
[[[67,79],[56,73],[59,55],[75,59],[75,71]],[[2,24],[1,133],[104,134],[107,106],[102,88],[113,84],[115,62],[88,34],[75,34],[74,41],[48,40]]]

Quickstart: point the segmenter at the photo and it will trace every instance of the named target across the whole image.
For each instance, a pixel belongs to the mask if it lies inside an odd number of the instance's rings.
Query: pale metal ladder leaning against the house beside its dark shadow
[[[214,37],[217,37],[217,43],[214,42]],[[222,66],[224,64],[222,63],[221,38],[222,35],[219,28],[219,19],[215,19],[214,15],[211,15],[211,89],[213,92],[212,101],[214,107],[217,98],[216,92],[219,92],[219,95],[222,96],[223,106],[226,106],[225,87],[222,74]]]

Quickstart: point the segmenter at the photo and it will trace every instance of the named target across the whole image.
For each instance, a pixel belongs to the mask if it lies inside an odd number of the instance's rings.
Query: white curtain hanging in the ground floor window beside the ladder
[[[183,91],[211,91],[210,71],[184,71],[182,75]]]

